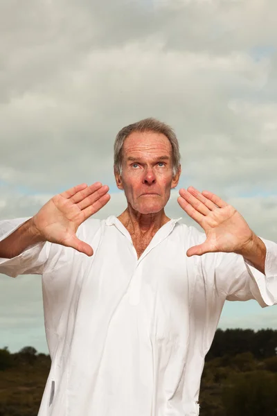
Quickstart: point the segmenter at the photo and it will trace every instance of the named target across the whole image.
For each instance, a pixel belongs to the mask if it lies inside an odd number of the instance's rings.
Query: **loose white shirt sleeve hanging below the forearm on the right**
[[[277,244],[265,240],[265,275],[235,253],[217,253],[215,277],[226,300],[255,299],[260,306],[277,304]]]

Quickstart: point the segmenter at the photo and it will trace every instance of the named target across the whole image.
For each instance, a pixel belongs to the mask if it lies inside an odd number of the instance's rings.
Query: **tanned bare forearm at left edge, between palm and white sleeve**
[[[26,250],[30,245],[45,241],[33,225],[33,218],[0,241],[0,258],[12,259]]]

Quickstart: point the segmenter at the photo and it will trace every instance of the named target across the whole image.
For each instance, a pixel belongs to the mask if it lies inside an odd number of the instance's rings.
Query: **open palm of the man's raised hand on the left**
[[[55,195],[32,218],[33,227],[45,241],[72,247],[88,256],[91,246],[76,236],[80,224],[104,207],[110,199],[109,187],[100,182],[80,184]]]

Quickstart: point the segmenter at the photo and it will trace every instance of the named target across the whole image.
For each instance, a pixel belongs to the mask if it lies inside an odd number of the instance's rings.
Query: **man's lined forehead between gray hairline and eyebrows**
[[[172,147],[168,138],[156,132],[132,132],[123,144],[123,157],[170,156]]]

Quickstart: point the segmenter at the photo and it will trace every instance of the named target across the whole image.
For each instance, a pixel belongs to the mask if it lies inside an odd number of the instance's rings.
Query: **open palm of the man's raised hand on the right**
[[[255,234],[240,213],[219,196],[209,191],[202,193],[193,187],[180,189],[178,203],[206,233],[206,241],[187,251],[187,256],[208,252],[241,254],[251,245]]]

